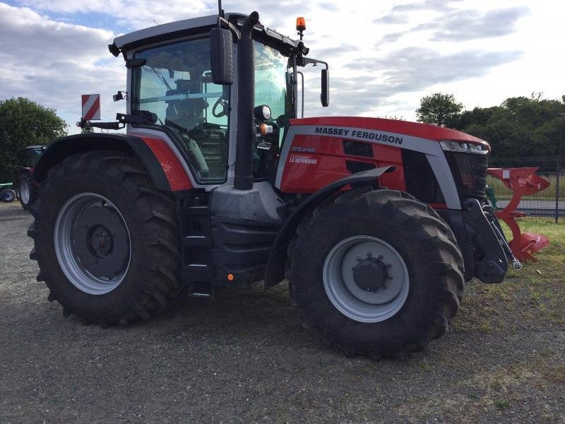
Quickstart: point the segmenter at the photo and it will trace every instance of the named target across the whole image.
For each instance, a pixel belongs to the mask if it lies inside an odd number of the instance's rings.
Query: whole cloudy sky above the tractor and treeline
[[[224,0],[227,12],[258,11],[261,23],[297,38],[304,16],[309,57],[330,65],[330,106],[319,68],[305,71],[304,116],[414,121],[424,95],[453,93],[465,109],[542,92],[565,94],[565,1]],[[156,23],[217,13],[218,1],[0,0],[0,100],[23,96],[57,110],[78,132],[81,94],[100,93],[102,119],[125,112],[114,37]]]

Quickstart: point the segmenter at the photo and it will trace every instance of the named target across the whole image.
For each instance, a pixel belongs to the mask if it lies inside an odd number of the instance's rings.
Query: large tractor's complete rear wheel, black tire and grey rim
[[[49,170],[39,196],[30,258],[65,316],[124,325],[165,310],[182,290],[174,200],[138,160],[73,155]]]

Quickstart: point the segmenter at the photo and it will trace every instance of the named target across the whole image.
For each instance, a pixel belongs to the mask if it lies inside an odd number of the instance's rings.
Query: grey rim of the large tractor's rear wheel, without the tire
[[[85,293],[109,293],[124,280],[131,261],[130,236],[118,208],[100,194],[71,197],[54,228],[59,266]]]

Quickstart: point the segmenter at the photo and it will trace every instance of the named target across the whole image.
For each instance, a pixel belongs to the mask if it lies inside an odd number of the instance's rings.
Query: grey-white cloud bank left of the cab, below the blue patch
[[[73,122],[81,117],[81,93],[100,93],[102,117],[112,119],[124,105],[107,99],[125,86],[124,62],[101,60],[109,56],[113,36],[0,3],[2,98],[30,98]]]

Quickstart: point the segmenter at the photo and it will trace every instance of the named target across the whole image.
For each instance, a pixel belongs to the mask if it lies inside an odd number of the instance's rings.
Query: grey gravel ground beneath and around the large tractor
[[[546,289],[470,283],[426,353],[375,362],[323,348],[283,285],[126,329],[65,319],[35,281],[31,220],[0,204],[0,423],[565,422],[562,278],[549,310]]]

